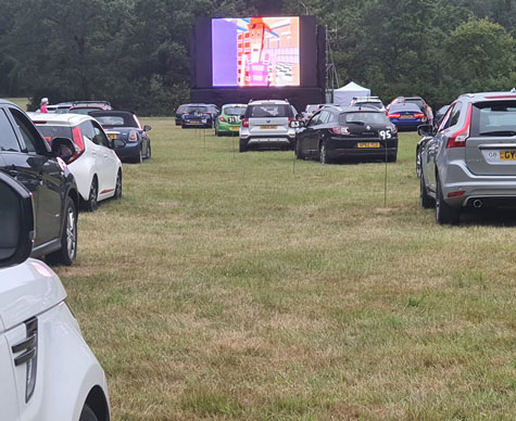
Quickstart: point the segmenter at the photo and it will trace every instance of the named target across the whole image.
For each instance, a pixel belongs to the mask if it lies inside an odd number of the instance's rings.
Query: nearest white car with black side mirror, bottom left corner
[[[0,173],[0,419],[109,421],[102,367],[85,343],[58,276],[28,258],[30,193]]]

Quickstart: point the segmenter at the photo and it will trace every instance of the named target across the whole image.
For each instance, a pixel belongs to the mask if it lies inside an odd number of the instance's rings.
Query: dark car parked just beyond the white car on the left
[[[114,151],[121,161],[141,163],[151,157],[151,126],[141,127],[135,113],[130,111],[95,111],[89,115],[96,118],[114,141]]]

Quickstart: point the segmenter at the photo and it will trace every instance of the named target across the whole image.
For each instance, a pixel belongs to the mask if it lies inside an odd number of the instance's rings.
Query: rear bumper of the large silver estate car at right
[[[450,206],[516,206],[516,176],[477,176],[461,161],[450,163],[439,174],[444,201]]]

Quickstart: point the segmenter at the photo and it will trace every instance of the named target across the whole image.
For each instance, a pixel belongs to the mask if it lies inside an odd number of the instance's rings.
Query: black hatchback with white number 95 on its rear
[[[398,129],[379,110],[327,106],[307,123],[292,122],[298,130],[295,156],[323,164],[342,158],[373,158],[395,162]],[[304,127],[305,126],[305,127]]]

